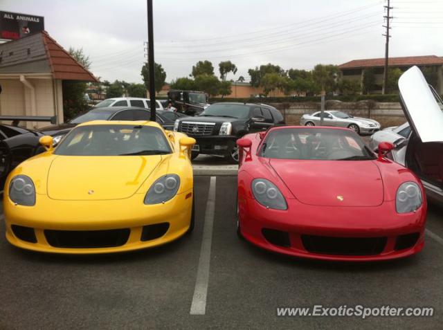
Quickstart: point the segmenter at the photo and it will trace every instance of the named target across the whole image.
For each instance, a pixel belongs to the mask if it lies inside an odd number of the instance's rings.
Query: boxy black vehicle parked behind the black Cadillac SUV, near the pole
[[[202,91],[183,91],[171,89],[168,92],[168,102],[181,113],[188,116],[197,116],[204,111],[208,104],[208,94]]]

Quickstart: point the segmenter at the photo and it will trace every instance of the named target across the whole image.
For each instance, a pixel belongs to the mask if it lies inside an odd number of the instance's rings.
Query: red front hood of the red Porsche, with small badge
[[[271,166],[301,203],[323,206],[376,206],[383,181],[373,161],[293,161]]]

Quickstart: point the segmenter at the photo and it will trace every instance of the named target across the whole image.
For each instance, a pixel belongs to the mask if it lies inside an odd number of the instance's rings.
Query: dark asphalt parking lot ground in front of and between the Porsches
[[[136,253],[30,253],[6,242],[1,220],[0,329],[441,328],[441,208],[430,206],[426,246],[415,257],[372,264],[312,262],[240,241],[235,190],[235,176],[197,176],[192,235]],[[435,311],[432,317],[365,320],[276,314],[277,307],[315,304]]]

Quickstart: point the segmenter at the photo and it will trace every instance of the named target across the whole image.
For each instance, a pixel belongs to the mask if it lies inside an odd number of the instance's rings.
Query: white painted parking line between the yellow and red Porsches
[[[194,297],[192,297],[191,315],[206,313],[206,297],[208,295],[210,248],[213,241],[213,223],[215,212],[215,176],[210,177],[208,202],[206,203],[205,223],[197,279],[195,281]]]

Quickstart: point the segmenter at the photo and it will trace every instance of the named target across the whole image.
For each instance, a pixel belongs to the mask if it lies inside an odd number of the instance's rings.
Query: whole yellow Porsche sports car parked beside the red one
[[[93,121],[6,180],[6,239],[51,253],[111,253],[168,243],[194,226],[195,140],[156,122]]]

